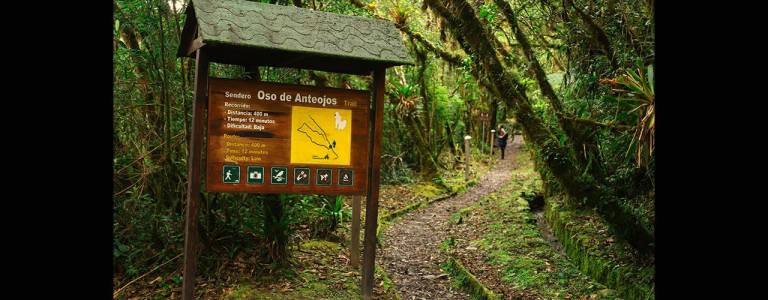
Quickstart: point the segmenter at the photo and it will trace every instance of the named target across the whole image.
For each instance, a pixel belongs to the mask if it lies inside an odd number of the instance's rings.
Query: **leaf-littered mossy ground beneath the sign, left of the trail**
[[[487,155],[472,161],[473,178],[489,171]],[[427,205],[430,201],[449,198],[466,192],[468,183],[464,173],[439,174],[441,183],[415,179],[411,183],[383,184],[380,192],[379,228],[383,231],[395,215]],[[351,197],[345,201],[350,210]],[[362,199],[361,224],[365,224],[365,199]],[[240,249],[234,257],[227,254],[209,254],[213,269],[200,271],[196,295],[202,299],[362,299],[360,295],[360,269],[350,266],[350,221],[344,220],[328,239],[311,237],[306,225],[300,225],[289,247],[291,266],[272,269],[263,258],[255,255],[260,245],[253,241],[231,245]],[[361,226],[360,239],[364,226]],[[240,241],[242,243],[244,241]],[[362,257],[362,245],[360,257]],[[380,253],[380,252],[379,252]],[[376,299],[397,299],[394,284],[381,268],[381,254],[377,255],[374,296]],[[204,258],[206,258],[204,257]],[[202,259],[202,258],[201,258]],[[180,261],[180,260],[179,260]],[[169,268],[158,270],[128,285],[116,299],[169,299],[181,292],[181,264],[176,261]]]

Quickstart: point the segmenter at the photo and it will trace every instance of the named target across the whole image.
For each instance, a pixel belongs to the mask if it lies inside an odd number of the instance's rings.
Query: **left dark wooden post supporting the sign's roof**
[[[204,112],[208,98],[208,56],[197,50],[195,60],[195,103],[192,111],[192,139],[189,144],[189,173],[187,177],[187,213],[184,224],[184,282],[182,299],[195,299],[197,273],[197,204],[200,201],[200,158],[203,149]]]

